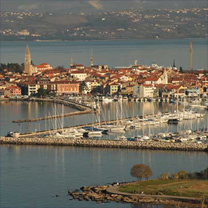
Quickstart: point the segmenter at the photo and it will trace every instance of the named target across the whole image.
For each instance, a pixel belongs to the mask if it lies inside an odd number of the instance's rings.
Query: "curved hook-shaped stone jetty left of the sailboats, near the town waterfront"
[[[39,118],[19,119],[19,120],[12,121],[13,123],[35,122],[35,121],[42,121],[42,120],[47,120],[47,119],[54,119],[54,118],[61,118],[61,117],[67,117],[67,116],[88,114],[88,113],[92,112],[92,109],[90,107],[86,106],[86,105],[79,104],[79,103],[72,102],[72,101],[68,101],[68,100],[64,100],[64,99],[41,99],[41,98],[36,98],[36,99],[32,99],[30,101],[52,102],[52,103],[62,104],[62,105],[65,105],[65,106],[69,106],[71,108],[75,108],[78,111],[71,112],[71,113],[65,113],[65,114],[59,114],[59,115],[44,116],[44,117],[39,117]]]

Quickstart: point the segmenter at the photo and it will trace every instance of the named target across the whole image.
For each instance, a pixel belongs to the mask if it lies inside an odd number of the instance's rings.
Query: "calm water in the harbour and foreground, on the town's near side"
[[[110,114],[113,118],[118,102],[101,105],[105,119]],[[123,116],[143,115],[158,111],[173,111],[175,105],[168,103],[139,103],[123,102]],[[54,114],[54,105],[36,102],[0,102],[1,134],[9,130],[19,129],[12,124],[13,119],[39,117],[44,114]],[[62,106],[56,106],[57,112]],[[182,106],[180,106],[182,110]],[[65,112],[73,109],[64,108]],[[144,111],[144,113],[143,113]],[[102,118],[101,118],[102,119]],[[96,120],[94,114],[68,117],[66,125],[87,123]],[[198,126],[204,126],[206,121],[198,121]],[[49,125],[52,125],[49,123]],[[180,124],[190,129],[191,123]],[[192,124],[192,126],[196,126]],[[22,124],[22,131],[31,131],[44,128],[44,123]],[[160,131],[176,131],[176,127],[162,126]],[[139,132],[140,131],[140,132]],[[127,134],[135,136],[139,131],[130,131]],[[145,129],[144,132],[148,132]],[[158,127],[151,128],[157,132]],[[107,139],[107,138],[106,138]],[[179,152],[179,151],[152,151],[152,150],[125,150],[125,149],[98,149],[74,147],[48,146],[0,146],[0,207],[5,208],[33,208],[33,207],[70,207],[70,208],[162,208],[164,206],[130,205],[122,203],[96,204],[94,202],[71,201],[67,190],[74,190],[83,185],[101,185],[114,181],[131,181],[130,168],[136,163],[148,164],[153,170],[153,177],[161,173],[174,173],[181,169],[186,171],[200,171],[208,164],[207,153]],[[55,197],[58,195],[59,197]]]

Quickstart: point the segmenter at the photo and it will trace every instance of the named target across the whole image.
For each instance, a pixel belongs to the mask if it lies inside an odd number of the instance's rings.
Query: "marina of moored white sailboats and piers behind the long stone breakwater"
[[[39,100],[37,100],[39,101]],[[36,102],[37,102],[36,101]],[[43,102],[43,100],[40,100]],[[46,99],[44,102],[53,102],[54,100]],[[125,101],[124,101],[125,102]],[[131,101],[134,102],[134,101]],[[109,115],[104,115],[102,110],[99,112],[94,112],[92,104],[83,104],[83,101],[78,102],[77,104],[73,101],[68,101],[67,99],[55,100],[57,103],[62,105],[62,114],[51,115],[49,117],[31,119],[30,121],[39,121],[51,119],[53,123],[53,128],[49,130],[42,130],[35,132],[26,132],[26,133],[13,133],[10,132],[7,134],[8,138],[30,138],[30,137],[43,137],[46,138],[57,138],[57,139],[98,139],[99,140],[114,140],[114,141],[151,141],[151,142],[169,142],[169,143],[203,143],[208,144],[208,132],[207,126],[201,126],[201,122],[205,119],[205,111],[196,112],[191,109],[186,110],[183,108],[180,111],[178,110],[178,105],[176,106],[177,111],[173,113],[161,113],[160,111],[157,114],[144,114],[144,111],[141,116],[137,115],[134,117],[127,117],[125,115],[125,105],[121,102],[114,102],[114,119],[111,120],[108,118]],[[64,114],[63,105],[73,103],[76,106],[76,109],[80,111],[75,111],[73,113]],[[101,105],[100,103],[94,105]],[[124,106],[123,106],[124,105]],[[65,107],[66,107],[65,106]],[[91,106],[91,107],[90,107]],[[79,115],[83,113],[90,113],[92,115],[92,120],[96,120],[95,123],[89,123],[81,125],[71,125],[66,127],[64,124],[64,117],[68,115]],[[102,115],[103,114],[103,115]],[[102,117],[102,119],[101,119]],[[21,121],[21,120],[19,120]],[[27,120],[24,120],[26,122]],[[22,121],[23,122],[23,121]],[[50,120],[49,120],[50,122]],[[190,122],[191,126],[189,128],[178,129],[178,124]],[[18,122],[17,122],[18,123]],[[198,125],[197,125],[198,124]],[[176,126],[175,131],[167,131],[169,125]],[[154,128],[161,129],[162,126],[166,126],[166,131],[157,130],[154,131]],[[193,127],[196,127],[193,129]],[[140,131],[140,134],[135,134]],[[144,132],[145,131],[145,132]],[[134,136],[132,133],[134,132]],[[154,143],[155,144],[155,143]],[[156,147],[155,147],[156,148]],[[204,148],[206,149],[206,148]]]

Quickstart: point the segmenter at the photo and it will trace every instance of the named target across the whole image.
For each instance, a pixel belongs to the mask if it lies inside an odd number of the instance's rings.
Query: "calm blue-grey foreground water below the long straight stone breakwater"
[[[2,208],[130,208],[133,205],[70,201],[67,190],[132,181],[130,169],[137,163],[149,165],[154,177],[182,169],[202,170],[208,164],[204,152],[1,145],[0,154]]]

